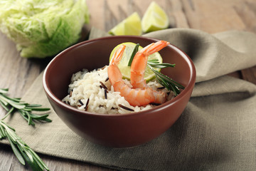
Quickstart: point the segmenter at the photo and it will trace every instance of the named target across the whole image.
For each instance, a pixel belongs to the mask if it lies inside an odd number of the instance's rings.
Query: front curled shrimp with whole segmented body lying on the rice
[[[130,88],[124,83],[122,79],[122,73],[118,68],[118,64],[122,59],[125,45],[120,46],[114,53],[110,65],[107,68],[107,74],[111,85],[114,87],[114,91],[120,92],[120,95],[129,102],[130,105],[147,105],[149,103],[164,103],[166,101],[166,95],[159,93],[152,88]]]

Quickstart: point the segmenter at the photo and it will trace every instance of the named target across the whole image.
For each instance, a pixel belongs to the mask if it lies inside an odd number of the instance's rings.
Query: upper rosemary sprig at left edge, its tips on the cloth
[[[0,88],[0,105],[7,110],[9,113],[17,110],[21,116],[27,120],[28,125],[35,125],[35,121],[44,121],[50,123],[51,120],[48,119],[48,114],[38,115],[32,113],[33,111],[48,111],[50,108],[39,108],[41,105],[38,104],[28,104],[21,101],[21,98],[10,98],[6,95],[8,93],[8,88]]]

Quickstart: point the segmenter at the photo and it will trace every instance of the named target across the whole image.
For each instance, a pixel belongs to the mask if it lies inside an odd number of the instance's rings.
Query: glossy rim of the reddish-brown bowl
[[[63,56],[65,53],[68,53],[68,51],[72,51],[74,48],[77,48],[79,46],[82,46],[84,44],[87,43],[92,43],[94,41],[100,41],[100,40],[104,40],[104,39],[112,39],[112,38],[139,38],[139,39],[145,39],[146,41],[159,41],[159,39],[157,38],[151,38],[151,37],[146,37],[146,36],[105,36],[105,37],[101,37],[101,38],[93,38],[91,40],[87,40],[87,41],[82,41],[80,43],[76,43],[73,46],[70,46],[66,49],[64,49],[63,51],[61,51],[60,53],[58,53],[46,66],[45,70],[43,71],[43,89],[46,92],[46,95],[48,96],[48,98],[50,98],[51,100],[54,101],[54,103],[56,103],[59,107],[61,108],[65,108],[70,110],[70,112],[75,112],[75,113],[80,113],[82,115],[94,115],[94,116],[101,116],[101,117],[127,117],[130,115],[143,115],[146,113],[151,113],[152,110],[161,110],[164,108],[168,108],[170,105],[174,105],[175,103],[178,103],[178,101],[180,101],[182,99],[182,97],[189,91],[191,90],[191,88],[193,88],[194,84],[196,83],[196,67],[193,64],[193,61],[191,60],[191,58],[185,53],[183,52],[180,48],[174,46],[173,44],[169,44],[168,46],[170,46],[171,48],[174,49],[174,51],[176,51],[179,55],[181,55],[185,61],[188,63],[188,66],[190,68],[191,71],[191,76],[189,78],[188,81],[188,85],[186,86],[186,88],[184,88],[180,94],[178,94],[175,98],[167,101],[166,103],[163,103],[161,105],[158,105],[154,108],[148,109],[148,110],[142,110],[139,112],[132,112],[132,113],[124,113],[124,114],[105,114],[105,113],[91,113],[91,112],[87,112],[87,111],[83,111],[83,110],[79,110],[78,108],[75,108],[71,105],[68,105],[66,103],[64,103],[62,100],[60,100],[59,98],[57,98],[53,92],[50,90],[50,88],[48,87],[48,81],[46,81],[46,75],[48,74],[48,69],[50,68],[50,66],[55,63],[56,60],[58,60],[58,58],[61,58],[61,56]]]

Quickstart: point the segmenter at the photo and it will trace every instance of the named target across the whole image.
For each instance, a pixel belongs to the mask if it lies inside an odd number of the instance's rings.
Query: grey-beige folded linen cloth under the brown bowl
[[[99,35],[106,36],[92,28],[90,38]],[[256,86],[225,76],[256,65],[256,35],[244,31],[211,35],[171,28],[144,36],[181,48],[197,71],[186,109],[159,138],[137,147],[102,147],[73,133],[53,110],[52,123],[31,127],[14,115],[9,124],[36,152],[119,170],[256,170]],[[50,107],[42,74],[22,100]]]

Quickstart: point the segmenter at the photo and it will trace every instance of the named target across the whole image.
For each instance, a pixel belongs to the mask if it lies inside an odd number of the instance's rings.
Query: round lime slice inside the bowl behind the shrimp
[[[124,44],[126,46],[126,48],[124,49],[124,54],[122,56],[122,60],[120,61],[118,68],[121,71],[123,78],[126,79],[130,79],[131,77],[131,67],[128,66],[129,63],[129,59],[131,57],[132,51],[134,50],[134,47],[136,46],[136,43],[132,43],[132,42],[125,42],[125,43],[121,43],[119,45],[117,45],[116,47],[114,47],[114,49],[112,50],[111,54],[110,54],[110,60],[112,58],[112,56],[114,55],[114,52],[117,51],[117,48],[119,48],[120,45]],[[139,46],[139,50],[142,49],[142,46]],[[163,59],[161,58],[160,53],[156,52],[153,53],[149,56],[148,60],[151,59],[156,59],[157,61],[159,61],[159,63],[163,62]],[[160,72],[160,68],[154,68],[156,71]],[[155,78],[155,74],[153,73],[153,71],[151,71],[151,69],[146,66],[146,71],[144,73],[144,79],[148,82],[151,81],[152,79]]]

